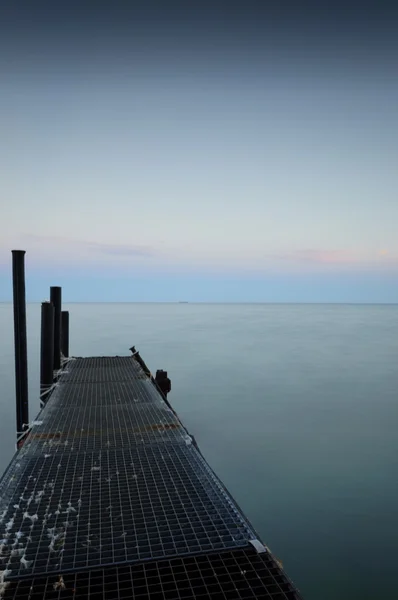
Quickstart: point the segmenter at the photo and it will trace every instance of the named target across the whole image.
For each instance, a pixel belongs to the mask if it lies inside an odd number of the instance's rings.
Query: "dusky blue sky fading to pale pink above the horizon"
[[[6,6],[9,4],[10,6]],[[0,301],[398,302],[392,3],[0,7]]]

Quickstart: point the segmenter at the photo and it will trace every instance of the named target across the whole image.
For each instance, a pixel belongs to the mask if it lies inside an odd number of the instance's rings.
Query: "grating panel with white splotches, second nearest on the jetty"
[[[245,546],[253,534],[192,446],[40,455],[8,480],[10,577]],[[2,490],[3,491],[3,490]],[[3,493],[2,493],[3,495]]]

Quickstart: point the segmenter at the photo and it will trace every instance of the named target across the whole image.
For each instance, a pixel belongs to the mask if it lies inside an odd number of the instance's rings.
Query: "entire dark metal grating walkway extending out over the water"
[[[298,598],[269,561],[134,358],[70,360],[0,481],[0,597]]]

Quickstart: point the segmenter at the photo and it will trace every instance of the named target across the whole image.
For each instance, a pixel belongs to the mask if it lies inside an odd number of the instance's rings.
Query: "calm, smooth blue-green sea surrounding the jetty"
[[[398,306],[70,304],[71,354],[168,370],[170,400],[306,600],[397,598]],[[28,306],[31,418],[40,305]],[[0,304],[0,471],[14,452]]]

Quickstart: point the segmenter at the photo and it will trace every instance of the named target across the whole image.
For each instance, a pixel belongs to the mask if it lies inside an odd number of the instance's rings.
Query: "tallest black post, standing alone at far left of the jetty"
[[[25,250],[12,250],[17,441],[29,423],[26,345]]]

